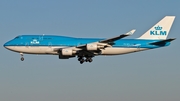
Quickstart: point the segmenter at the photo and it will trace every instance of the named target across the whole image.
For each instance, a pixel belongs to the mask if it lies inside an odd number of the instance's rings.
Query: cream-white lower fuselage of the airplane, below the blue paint
[[[49,46],[8,46],[6,47],[9,50],[19,52],[19,53],[27,53],[27,54],[52,54],[58,55],[57,51],[54,51],[56,48],[63,47],[49,47]],[[132,52],[138,52],[147,50],[146,48],[105,48],[101,50],[101,55],[120,55],[127,54]]]

